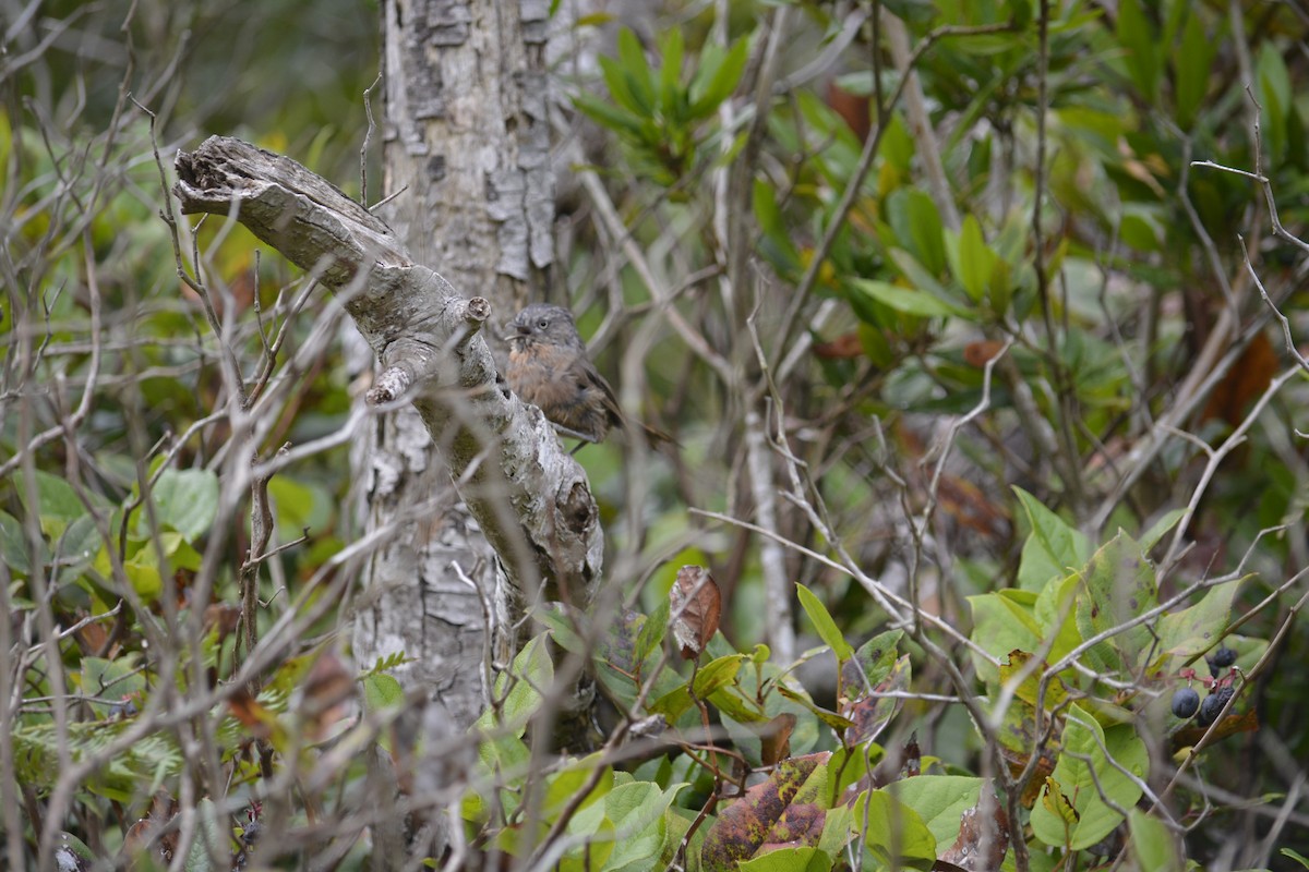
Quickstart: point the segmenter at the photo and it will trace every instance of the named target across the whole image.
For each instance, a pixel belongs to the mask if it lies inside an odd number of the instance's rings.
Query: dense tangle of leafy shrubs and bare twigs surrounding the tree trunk
[[[359,193],[377,10],[3,7],[8,865],[1309,865],[1309,12],[558,5],[555,298],[679,447],[579,454],[631,608],[440,746],[344,645],[351,328],[161,220],[211,132]]]

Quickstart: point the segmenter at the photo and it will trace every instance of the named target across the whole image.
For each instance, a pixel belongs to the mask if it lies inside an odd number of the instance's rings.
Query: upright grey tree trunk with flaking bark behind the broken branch
[[[382,4],[386,118],[380,214],[415,258],[463,295],[491,301],[484,331],[543,295],[552,261],[548,163],[547,0],[389,0]],[[513,642],[486,618],[496,561],[450,485],[418,413],[380,418],[355,456],[365,532],[399,523],[364,578],[355,656],[403,651],[399,677],[424,688],[457,727],[483,707],[483,660]],[[473,582],[478,590],[469,583]],[[499,616],[499,617],[496,617]]]

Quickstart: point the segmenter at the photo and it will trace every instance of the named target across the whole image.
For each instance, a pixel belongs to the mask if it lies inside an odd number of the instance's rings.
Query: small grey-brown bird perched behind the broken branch
[[[601,442],[611,429],[627,429],[614,388],[586,358],[567,309],[531,303],[514,315],[505,378],[514,394],[568,435]],[[672,442],[668,434],[640,426],[651,444]]]

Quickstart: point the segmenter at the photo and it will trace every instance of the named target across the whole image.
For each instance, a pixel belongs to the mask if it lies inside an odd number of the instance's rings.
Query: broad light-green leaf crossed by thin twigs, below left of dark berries
[[[1042,796],[1051,801],[1043,799],[1031,809],[1031,830],[1037,838],[1054,847],[1067,845],[1080,851],[1118,826],[1123,816],[1101,799],[1101,792],[1118,808],[1130,809],[1140,799],[1141,788],[1110,760],[1138,779],[1149,773],[1149,753],[1134,727],[1101,728],[1090,713],[1073,703],[1064,723],[1059,762],[1050,777],[1063,796],[1052,796],[1050,783],[1042,790]],[[1064,800],[1075,812],[1075,820],[1059,813]]]

